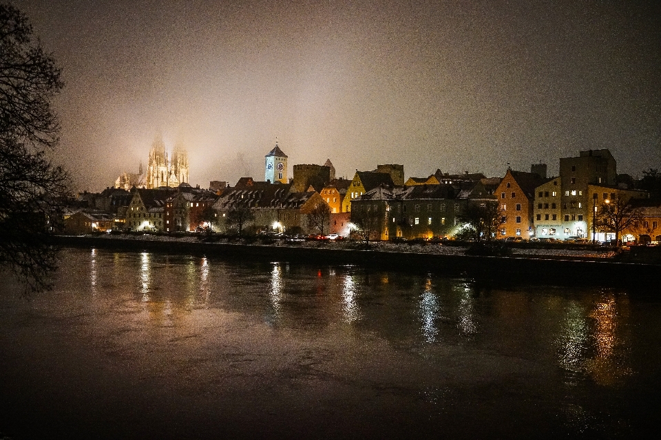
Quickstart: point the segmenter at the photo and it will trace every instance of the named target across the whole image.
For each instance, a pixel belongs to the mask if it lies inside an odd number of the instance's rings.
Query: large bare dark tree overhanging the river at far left
[[[49,235],[68,178],[46,153],[58,142],[50,100],[62,87],[60,69],[33,41],[27,17],[0,4],[0,265],[28,292],[48,287],[56,268]]]

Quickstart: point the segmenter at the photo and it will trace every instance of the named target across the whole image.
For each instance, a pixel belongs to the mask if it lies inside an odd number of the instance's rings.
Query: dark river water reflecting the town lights
[[[11,439],[629,438],[661,409],[661,301],[626,289],[64,250],[21,293]]]

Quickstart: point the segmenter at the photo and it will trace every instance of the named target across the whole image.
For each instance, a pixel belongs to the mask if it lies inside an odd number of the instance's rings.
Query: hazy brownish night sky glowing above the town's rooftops
[[[263,179],[276,137],[290,176],[554,174],[589,148],[661,168],[658,1],[13,3],[63,68],[75,190],[146,166],[157,133],[202,187]]]

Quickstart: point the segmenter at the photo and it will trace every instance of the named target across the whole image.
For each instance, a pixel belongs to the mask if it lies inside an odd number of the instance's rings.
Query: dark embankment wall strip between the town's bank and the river
[[[155,237],[154,237],[155,238]],[[552,285],[636,285],[658,287],[658,263],[631,263],[606,258],[554,257],[514,254],[474,256],[383,250],[340,249],[331,246],[207,243],[151,239],[150,236],[54,236],[54,244],[128,252],[195,254],[235,261],[289,261],[295,263],[361,265],[379,270],[414,271],[475,278],[501,283]]]

